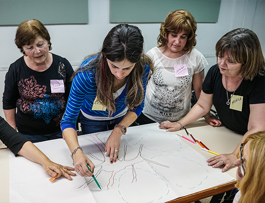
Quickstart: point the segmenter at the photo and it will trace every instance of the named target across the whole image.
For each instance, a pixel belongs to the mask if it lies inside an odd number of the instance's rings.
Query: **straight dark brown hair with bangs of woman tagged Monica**
[[[215,46],[216,57],[227,52],[233,61],[242,63],[240,75],[253,80],[264,75],[265,59],[258,36],[250,29],[237,28],[222,36]]]

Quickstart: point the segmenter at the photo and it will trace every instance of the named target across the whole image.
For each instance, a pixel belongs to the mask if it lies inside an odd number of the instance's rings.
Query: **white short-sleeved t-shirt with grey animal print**
[[[207,60],[195,48],[176,59],[166,57],[157,47],[146,54],[156,71],[147,84],[143,114],[159,123],[182,119],[190,110],[192,77],[208,65]],[[187,65],[188,76],[176,77],[174,65],[182,64]]]

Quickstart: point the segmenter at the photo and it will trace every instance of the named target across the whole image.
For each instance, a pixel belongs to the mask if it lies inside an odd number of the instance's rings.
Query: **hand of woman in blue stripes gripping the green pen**
[[[95,169],[95,165],[90,161],[90,159],[81,151],[78,150],[74,155],[74,166],[75,171],[81,176],[81,177],[90,177],[94,174],[92,173]],[[86,166],[86,164],[89,166],[90,172]]]

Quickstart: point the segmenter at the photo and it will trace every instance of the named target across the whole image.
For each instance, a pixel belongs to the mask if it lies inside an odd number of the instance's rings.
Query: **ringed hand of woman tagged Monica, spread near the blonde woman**
[[[213,156],[212,158],[208,159],[208,166],[212,166],[212,168],[217,168],[221,165],[225,165],[222,169],[222,172],[226,172],[227,169],[234,166],[234,162],[237,160],[237,156],[233,153],[228,154],[220,154],[218,156]]]

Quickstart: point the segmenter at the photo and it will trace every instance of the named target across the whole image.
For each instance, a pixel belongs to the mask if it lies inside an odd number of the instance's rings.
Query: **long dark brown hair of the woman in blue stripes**
[[[111,73],[106,59],[113,62],[127,59],[131,63],[135,63],[127,80],[127,107],[130,111],[133,111],[144,100],[142,76],[146,67],[150,66],[151,74],[155,70],[152,60],[143,54],[143,36],[141,30],[133,25],[116,25],[108,32],[103,42],[102,50],[97,54],[101,54],[100,57],[89,64],[84,64],[84,68],[80,67],[74,76],[80,71],[96,67],[97,99],[101,104],[106,106],[109,117],[111,117],[116,111],[113,100],[115,76]],[[86,58],[97,54],[87,56]]]

